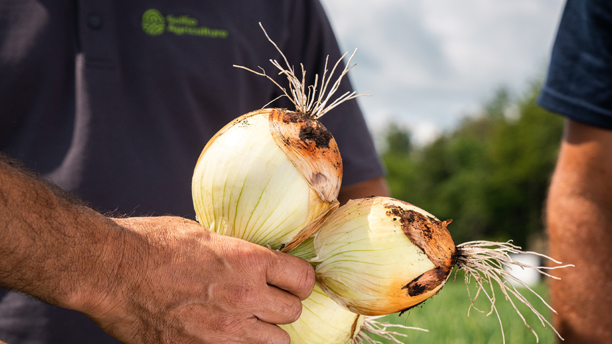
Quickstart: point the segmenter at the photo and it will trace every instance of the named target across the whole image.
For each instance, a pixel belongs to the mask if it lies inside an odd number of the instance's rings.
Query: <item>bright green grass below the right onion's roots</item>
[[[545,283],[539,283],[531,287],[548,302],[547,285]],[[472,282],[472,296],[474,296],[475,291]],[[535,309],[544,315],[548,321],[551,321],[550,310],[537,296],[525,288],[521,289],[521,293],[534,305]],[[501,291],[496,291],[496,297],[496,307],[504,326],[506,343],[536,343],[535,336],[524,326],[523,320],[512,308],[510,302],[504,299]],[[501,344],[502,334],[497,316],[495,313],[486,316],[486,313],[490,310],[490,303],[486,297],[481,293],[475,303],[476,307],[479,307],[485,313],[480,313],[472,308],[468,318],[469,304],[470,299],[465,283],[463,283],[463,279],[457,277],[455,282],[451,279],[436,296],[425,301],[423,304],[412,308],[401,316],[398,313],[388,315],[379,319],[379,321],[420,327],[430,331],[402,330],[401,332],[408,334],[408,337],[401,339],[406,344]],[[537,317],[526,307],[519,307],[518,305],[517,307],[528,324],[539,335],[540,344],[556,343],[556,334],[554,334],[550,327],[542,327]],[[381,338],[376,338],[376,340],[380,340],[383,343],[392,343]]]

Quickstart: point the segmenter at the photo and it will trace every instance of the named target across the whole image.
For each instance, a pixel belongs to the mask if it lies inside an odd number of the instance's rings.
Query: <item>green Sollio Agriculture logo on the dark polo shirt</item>
[[[211,29],[198,26],[196,18],[188,15],[166,15],[159,10],[149,9],[143,13],[143,31],[151,36],[159,36],[164,32],[171,32],[177,36],[189,35],[211,38],[227,38],[229,32],[224,29]]]

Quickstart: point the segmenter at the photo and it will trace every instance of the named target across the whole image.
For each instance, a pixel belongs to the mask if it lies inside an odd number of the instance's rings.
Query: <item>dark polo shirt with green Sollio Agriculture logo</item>
[[[2,1],[0,150],[99,211],[193,218],[204,144],[280,94],[232,67],[276,74],[269,59],[280,55],[259,22],[310,83],[327,54],[340,57],[318,0]],[[350,90],[345,78],[337,95]],[[383,174],[355,100],[321,121],[340,148],[343,185]],[[80,313],[6,291],[0,340],[116,342]]]

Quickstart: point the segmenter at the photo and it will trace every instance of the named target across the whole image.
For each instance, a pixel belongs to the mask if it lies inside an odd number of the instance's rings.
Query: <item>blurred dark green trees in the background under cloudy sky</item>
[[[500,89],[482,115],[421,148],[411,148],[409,133],[391,125],[383,161],[392,195],[453,219],[449,231],[456,243],[513,239],[525,247],[542,233],[563,127],[561,116],[535,103],[538,92],[534,84],[512,100]]]

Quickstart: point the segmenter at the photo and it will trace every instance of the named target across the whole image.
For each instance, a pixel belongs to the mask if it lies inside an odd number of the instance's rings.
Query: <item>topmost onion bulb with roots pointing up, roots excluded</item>
[[[313,128],[323,140],[304,135]],[[204,147],[192,179],[196,218],[216,233],[289,250],[338,207],[341,175],[337,144],[318,121],[252,111]]]

